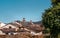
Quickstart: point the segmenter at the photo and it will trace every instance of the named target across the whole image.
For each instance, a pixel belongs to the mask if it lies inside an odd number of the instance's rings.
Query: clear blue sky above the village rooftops
[[[0,0],[0,22],[8,23],[22,18],[41,21],[44,10],[50,6],[50,0]]]

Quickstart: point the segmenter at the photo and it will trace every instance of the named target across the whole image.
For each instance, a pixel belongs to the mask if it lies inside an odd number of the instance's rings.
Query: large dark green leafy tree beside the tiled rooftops
[[[60,1],[52,0],[52,7],[45,10],[42,23],[50,29],[51,38],[58,38],[60,32]]]

